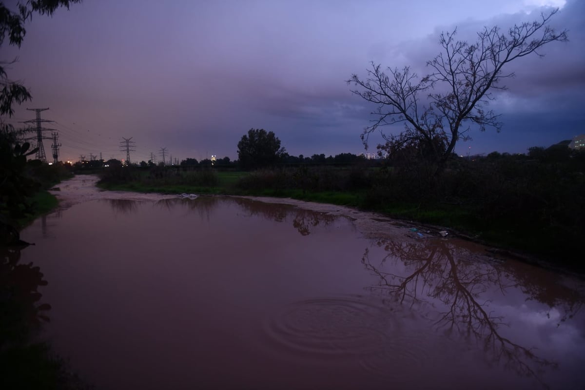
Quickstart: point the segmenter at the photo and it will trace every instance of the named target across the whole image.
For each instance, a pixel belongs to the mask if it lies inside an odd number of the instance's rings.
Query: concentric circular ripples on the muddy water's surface
[[[395,330],[393,312],[360,297],[315,298],[291,303],[266,323],[278,345],[311,354],[375,353]]]

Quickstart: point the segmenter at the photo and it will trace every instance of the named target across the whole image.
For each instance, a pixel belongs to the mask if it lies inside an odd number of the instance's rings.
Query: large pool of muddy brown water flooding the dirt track
[[[221,197],[82,202],[22,239],[98,389],[585,386],[583,282],[464,241]]]

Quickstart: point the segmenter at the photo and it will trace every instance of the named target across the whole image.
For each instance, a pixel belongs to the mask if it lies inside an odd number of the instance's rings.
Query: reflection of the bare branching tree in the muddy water
[[[558,364],[504,337],[500,327],[506,325],[505,319],[490,310],[486,296],[494,290],[504,295],[507,289],[519,287],[530,294],[529,299],[543,303],[559,303],[559,299],[565,298],[564,318],[572,317],[580,308],[581,303],[577,302],[582,300],[565,295],[544,301],[541,287],[527,283],[525,277],[514,274],[510,267],[499,267],[460,245],[449,240],[380,241],[378,246],[383,246],[387,254],[379,263],[372,263],[369,249],[362,257],[366,269],[380,278],[369,289],[389,294],[400,303],[441,306],[436,326],[456,331],[468,341],[473,339],[493,363],[532,376],[546,386],[541,374],[545,368],[556,368]],[[384,271],[390,269],[405,271],[404,274]]]

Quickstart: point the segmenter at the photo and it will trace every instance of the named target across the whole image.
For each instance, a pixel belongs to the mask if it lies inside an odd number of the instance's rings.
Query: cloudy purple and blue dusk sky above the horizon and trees
[[[569,42],[511,63],[516,77],[489,106],[502,131],[472,129],[455,149],[526,153],[585,133],[583,0],[84,0],[33,16],[20,49],[2,46],[1,60],[18,57],[9,78],[33,96],[9,122],[50,108],[42,118],[54,120],[44,126],[59,132],[63,161],[125,158],[122,137],[135,142],[132,161],[160,161],[161,148],[167,160],[233,160],[252,128],[273,131],[294,156],[359,154],[375,106],[352,94],[352,74],[364,77],[370,61],[430,73],[442,31],[473,39],[552,8]],[[369,151],[381,141],[372,136]]]

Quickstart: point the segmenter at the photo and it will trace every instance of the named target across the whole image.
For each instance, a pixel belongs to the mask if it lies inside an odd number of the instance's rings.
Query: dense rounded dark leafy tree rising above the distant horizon
[[[269,167],[284,155],[280,140],[273,132],[264,129],[250,129],[238,143],[238,158],[244,169]]]

